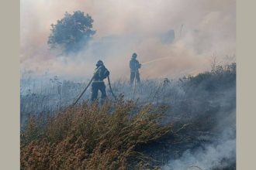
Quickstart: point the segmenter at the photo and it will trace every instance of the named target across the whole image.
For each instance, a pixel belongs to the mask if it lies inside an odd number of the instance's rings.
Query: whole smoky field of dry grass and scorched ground
[[[22,169],[235,169],[236,64],[178,80],[112,83],[103,106],[86,83],[21,80]]]

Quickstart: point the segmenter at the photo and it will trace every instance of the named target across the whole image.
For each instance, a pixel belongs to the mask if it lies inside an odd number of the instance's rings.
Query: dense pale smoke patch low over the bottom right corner
[[[194,152],[185,151],[182,158],[170,162],[163,169],[223,169],[235,163],[236,141],[227,140],[218,145],[207,145]],[[199,168],[198,168],[199,167]]]

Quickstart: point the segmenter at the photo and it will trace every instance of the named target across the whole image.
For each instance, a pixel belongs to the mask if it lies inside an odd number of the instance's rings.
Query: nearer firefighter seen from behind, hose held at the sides
[[[92,101],[97,99],[98,91],[100,90],[102,93],[101,104],[103,104],[104,100],[106,99],[106,86],[104,79],[106,79],[107,76],[109,76],[109,70],[106,69],[102,60],[99,60],[96,63],[96,69],[92,80]]]

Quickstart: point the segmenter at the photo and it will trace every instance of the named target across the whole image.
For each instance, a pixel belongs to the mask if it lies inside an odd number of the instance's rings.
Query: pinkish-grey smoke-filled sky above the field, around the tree
[[[235,0],[22,0],[20,5],[22,70],[86,77],[103,59],[113,78],[125,79],[136,52],[141,63],[158,59],[142,66],[143,78],[172,78],[207,70],[213,53],[222,60],[236,50]],[[78,55],[57,56],[47,46],[50,24],[77,10],[94,19],[94,40]],[[163,43],[170,29],[175,42]]]

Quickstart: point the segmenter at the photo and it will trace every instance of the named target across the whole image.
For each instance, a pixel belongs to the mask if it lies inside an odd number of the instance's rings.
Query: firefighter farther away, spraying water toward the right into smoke
[[[137,58],[137,53],[133,53],[133,56],[130,59],[130,84],[133,84],[135,77],[136,77],[137,83],[140,83],[139,69],[141,67],[141,64],[136,58]]]

